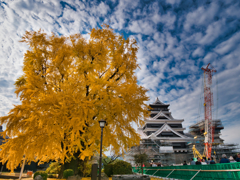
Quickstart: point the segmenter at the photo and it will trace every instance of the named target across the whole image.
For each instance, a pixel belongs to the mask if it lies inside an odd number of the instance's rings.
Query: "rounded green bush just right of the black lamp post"
[[[132,166],[126,161],[118,161],[113,165],[113,174],[132,174]]]

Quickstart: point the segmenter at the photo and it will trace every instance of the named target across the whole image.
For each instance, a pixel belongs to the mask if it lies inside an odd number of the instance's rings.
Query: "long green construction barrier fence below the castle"
[[[133,167],[133,172],[141,173],[141,168]],[[143,173],[152,177],[185,180],[240,179],[240,162],[209,165],[144,167]]]

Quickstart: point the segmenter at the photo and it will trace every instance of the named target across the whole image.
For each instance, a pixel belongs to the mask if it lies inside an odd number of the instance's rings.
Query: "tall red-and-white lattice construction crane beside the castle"
[[[213,94],[211,91],[212,74],[217,72],[210,63],[206,68],[201,68],[204,72],[204,117],[205,117],[205,140],[204,152],[207,158],[211,157],[212,143],[214,142],[214,126],[212,121]]]

